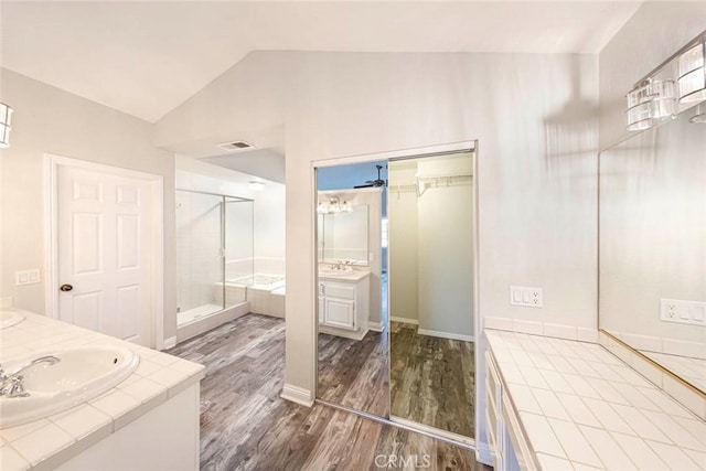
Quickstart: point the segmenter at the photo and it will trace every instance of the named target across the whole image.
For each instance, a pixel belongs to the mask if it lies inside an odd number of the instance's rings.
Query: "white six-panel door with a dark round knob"
[[[162,176],[46,156],[47,313],[163,346]]]

